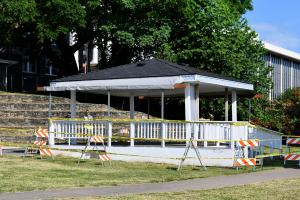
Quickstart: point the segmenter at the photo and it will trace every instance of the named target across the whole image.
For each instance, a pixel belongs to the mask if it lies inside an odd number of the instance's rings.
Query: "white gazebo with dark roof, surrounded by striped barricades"
[[[106,137],[110,152],[116,154],[127,152],[127,156],[139,155],[139,160],[143,160],[142,157],[149,156],[151,151],[150,157],[152,157],[152,160],[153,156],[157,155],[160,157],[158,160],[154,159],[154,161],[163,162],[169,159],[168,162],[172,163],[174,160],[170,161],[170,157],[180,157],[179,154],[183,153],[183,149],[174,146],[167,148],[166,143],[168,141],[186,141],[193,136],[199,141],[199,146],[203,146],[201,151],[205,156],[228,159],[228,157],[234,157],[234,140],[258,136],[254,134],[257,131],[253,131],[248,122],[237,123],[237,96],[251,96],[253,93],[252,84],[184,64],[150,59],[64,77],[54,80],[45,89],[50,92],[70,91],[71,96],[71,119],[50,119],[49,144],[53,147],[57,146],[55,144],[57,138],[67,138],[69,143],[60,147],[82,148],[78,145],[72,145],[70,139],[86,138],[83,133],[88,133]],[[94,119],[88,122],[83,119],[76,119],[76,91],[107,95],[108,116],[110,116],[111,96],[128,97],[130,99],[130,119],[122,121],[122,123],[128,123],[130,127],[129,146],[118,147],[112,145],[114,137],[112,127],[120,121],[109,118]],[[231,94],[232,121],[228,121],[229,94]],[[134,97],[136,96],[161,97],[161,119],[135,120]],[[184,96],[185,121],[164,120],[164,98],[172,96]],[[199,121],[199,98],[202,96],[224,96],[225,121]],[[93,127],[92,130],[85,128],[87,123]],[[163,148],[160,146],[135,145],[135,140],[143,139],[160,141]],[[150,157],[148,157],[148,161]],[[118,157],[116,156],[116,158]],[[130,159],[135,158],[131,157]],[[126,159],[129,158],[126,157]],[[207,160],[205,164],[232,165],[232,160],[230,162],[223,161],[222,159]]]

